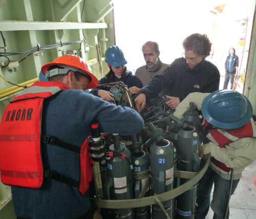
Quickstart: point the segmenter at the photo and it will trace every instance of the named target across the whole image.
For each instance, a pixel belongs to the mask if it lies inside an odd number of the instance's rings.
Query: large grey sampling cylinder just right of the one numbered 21
[[[198,156],[199,135],[195,127],[187,126],[177,132],[177,168],[181,171],[199,172],[200,158]],[[180,184],[187,182],[187,179],[180,179]],[[177,217],[191,219],[194,218],[196,205],[195,185],[186,192],[177,196]]]

